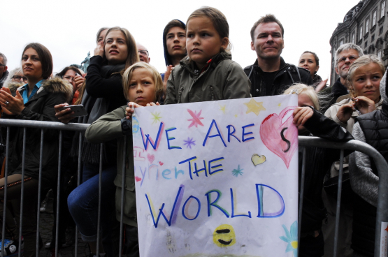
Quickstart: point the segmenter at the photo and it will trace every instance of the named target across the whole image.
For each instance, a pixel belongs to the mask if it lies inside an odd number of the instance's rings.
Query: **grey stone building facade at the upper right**
[[[376,54],[388,66],[388,15],[387,0],[363,0],[351,8],[343,22],[338,23],[330,38],[331,78],[330,85],[338,79],[336,73],[336,50],[345,43],[359,45],[364,54]]]

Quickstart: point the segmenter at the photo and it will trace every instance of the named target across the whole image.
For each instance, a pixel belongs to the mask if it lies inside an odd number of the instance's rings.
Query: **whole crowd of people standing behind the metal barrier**
[[[319,58],[314,52],[303,52],[297,66],[286,63],[281,57],[284,29],[274,15],[266,15],[255,22],[250,36],[257,60],[242,68],[232,61],[227,18],[216,8],[203,7],[194,10],[186,23],[171,20],[166,25],[163,31],[166,71],[162,74],[149,64],[147,48],[136,43],[122,27],[104,27],[97,32],[96,48],[87,73],[67,66],[53,75],[50,51],[40,43],[29,43],[22,52],[21,68],[10,72],[6,56],[0,53],[2,119],[91,124],[85,133],[68,131],[62,135],[59,189],[58,132],[27,129],[22,164],[24,129],[10,129],[9,172],[0,179],[0,198],[6,200],[3,252],[11,255],[20,250],[17,240],[22,216],[24,256],[35,256],[41,168],[42,195],[49,189],[55,194],[60,192],[59,244],[55,245],[54,226],[52,241],[45,247],[55,252],[55,247],[69,246],[66,231],[76,225],[82,240],[89,243],[91,257],[97,252],[106,257],[117,256],[123,195],[123,254],[138,256],[131,115],[135,108],[142,106],[297,94],[298,107],[293,115],[299,135],[315,135],[337,142],[356,138],[378,149],[388,161],[385,144],[388,134],[384,132],[388,127],[387,80],[385,67],[378,57],[364,55],[361,48],[352,43],[341,45],[335,53],[339,78],[335,84],[327,86],[327,80],[317,75]],[[78,104],[84,106],[87,115],[74,118],[68,106]],[[1,128],[1,133],[5,138],[6,128]],[[42,160],[39,159],[41,137],[44,137]],[[126,156],[123,155],[124,145]],[[331,256],[336,183],[328,182],[337,179],[338,183],[340,152],[307,148],[299,256]],[[302,147],[299,148],[299,177],[301,152]],[[373,256],[378,170],[373,160],[364,154],[347,151],[345,155],[344,177],[349,179],[343,182],[346,200],[341,205],[338,256]],[[97,242],[100,156],[103,158],[101,203],[104,207],[101,208],[101,240]],[[80,186],[74,182],[78,157],[82,160]],[[123,163],[126,163],[124,188]],[[22,181],[24,212],[21,215]],[[4,189],[7,189],[6,199]],[[3,212],[3,205],[0,212]],[[43,247],[43,242],[39,247]]]

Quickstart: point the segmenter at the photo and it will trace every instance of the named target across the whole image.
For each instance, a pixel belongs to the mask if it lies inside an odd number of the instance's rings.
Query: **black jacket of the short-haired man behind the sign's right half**
[[[312,85],[312,78],[309,71],[305,68],[296,67],[293,64],[286,64],[282,57],[280,57],[280,69],[273,80],[271,92],[266,91],[266,82],[261,78],[263,71],[257,65],[257,59],[253,65],[245,67],[244,72],[252,84],[250,87],[252,97],[282,94],[285,89],[296,82]]]

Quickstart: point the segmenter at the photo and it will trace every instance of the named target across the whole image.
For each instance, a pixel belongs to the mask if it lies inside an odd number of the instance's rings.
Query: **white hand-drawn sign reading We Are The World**
[[[297,253],[296,95],[136,108],[140,256]]]

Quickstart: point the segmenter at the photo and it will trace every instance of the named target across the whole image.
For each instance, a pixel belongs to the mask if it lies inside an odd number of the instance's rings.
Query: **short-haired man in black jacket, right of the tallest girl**
[[[251,49],[256,51],[257,60],[244,68],[252,82],[252,96],[274,96],[296,82],[312,85],[312,78],[304,68],[286,64],[280,57],[285,47],[282,24],[272,14],[261,17],[254,23],[250,36]]]

